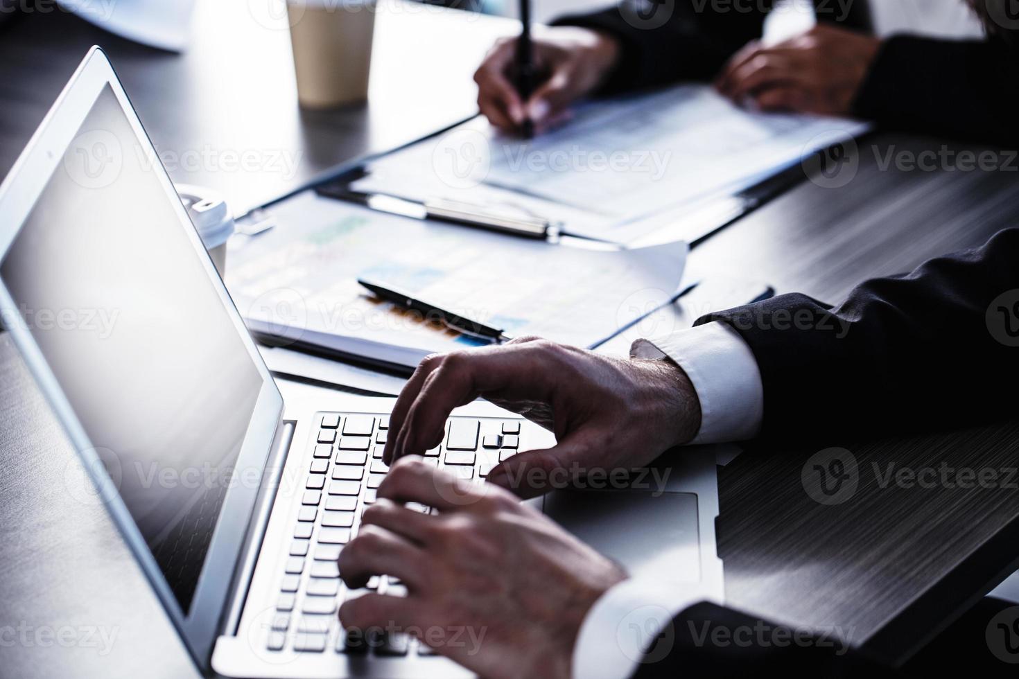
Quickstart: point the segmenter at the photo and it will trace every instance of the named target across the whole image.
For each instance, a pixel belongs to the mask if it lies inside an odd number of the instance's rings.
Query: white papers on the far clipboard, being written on
[[[475,204],[630,243],[694,213],[710,215],[712,202],[868,129],[855,120],[755,113],[707,86],[680,86],[583,104],[571,121],[533,139],[475,118],[374,160],[351,187]]]

